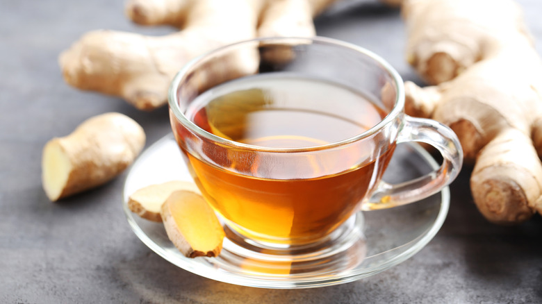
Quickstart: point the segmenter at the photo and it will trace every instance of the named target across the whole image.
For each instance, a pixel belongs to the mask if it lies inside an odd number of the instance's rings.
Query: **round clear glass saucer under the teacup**
[[[400,183],[438,168],[417,144],[400,144],[384,180]],[[267,255],[239,246],[227,227],[218,257],[185,257],[167,238],[162,223],[133,214],[128,196],[141,187],[170,180],[192,181],[172,134],[150,146],[131,167],[124,184],[124,212],[133,232],[165,260],[199,276],[249,287],[295,289],[323,287],[372,276],[420,251],[441,228],[450,206],[445,187],[427,199],[387,210],[358,212],[334,232],[333,250],[318,256],[295,252]]]

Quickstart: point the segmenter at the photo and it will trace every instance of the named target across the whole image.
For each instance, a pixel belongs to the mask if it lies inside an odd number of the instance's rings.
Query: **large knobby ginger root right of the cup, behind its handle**
[[[407,83],[407,113],[457,133],[475,203],[488,220],[542,212],[542,61],[511,0],[407,0],[409,61],[429,83]],[[533,143],[533,138],[536,140]],[[536,146],[534,146],[536,144]]]

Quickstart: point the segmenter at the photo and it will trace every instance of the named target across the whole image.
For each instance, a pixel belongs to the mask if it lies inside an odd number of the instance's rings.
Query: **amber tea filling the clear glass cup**
[[[306,244],[329,234],[356,211],[393,151],[361,164],[354,163],[355,149],[301,153],[286,166],[274,166],[275,160],[258,150],[339,142],[385,116],[361,94],[313,79],[234,81],[199,96],[186,115],[209,133],[261,147],[209,151],[204,146],[204,158],[211,161],[185,154],[213,208],[238,232],[262,242]]]

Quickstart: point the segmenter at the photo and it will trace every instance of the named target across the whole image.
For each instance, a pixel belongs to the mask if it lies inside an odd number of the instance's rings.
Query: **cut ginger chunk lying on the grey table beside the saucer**
[[[45,144],[42,184],[51,201],[115,178],[145,146],[145,132],[133,119],[106,113],[84,121],[72,134]]]

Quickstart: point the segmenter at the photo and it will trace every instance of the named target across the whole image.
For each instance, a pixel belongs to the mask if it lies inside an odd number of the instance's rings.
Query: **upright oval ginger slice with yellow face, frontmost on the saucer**
[[[199,194],[173,192],[163,203],[161,215],[167,237],[186,257],[216,257],[222,250],[224,229]]]

